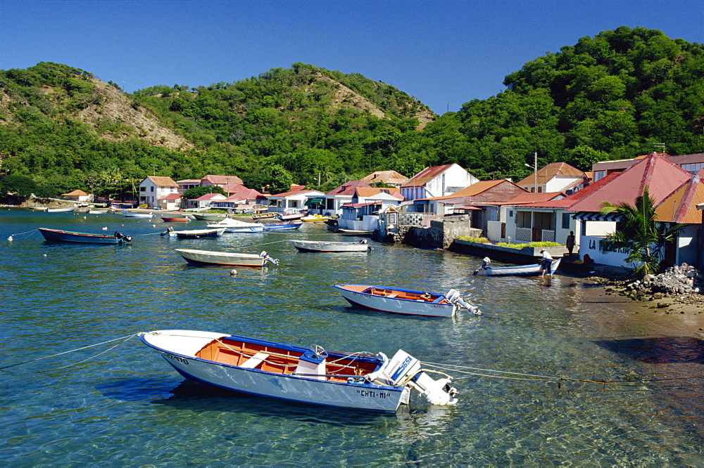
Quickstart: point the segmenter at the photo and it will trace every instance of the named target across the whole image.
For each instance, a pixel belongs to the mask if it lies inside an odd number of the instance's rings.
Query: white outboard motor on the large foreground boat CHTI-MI
[[[452,380],[447,377],[435,380],[420,367],[420,361],[399,349],[382,370],[382,379],[391,385],[404,385],[416,389],[433,405],[454,405],[457,403],[457,390],[450,386]]]

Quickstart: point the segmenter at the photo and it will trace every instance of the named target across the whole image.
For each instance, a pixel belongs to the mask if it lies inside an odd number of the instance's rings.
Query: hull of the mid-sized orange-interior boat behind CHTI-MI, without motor
[[[455,304],[439,304],[437,301],[427,302],[412,299],[401,299],[398,297],[382,297],[364,292],[372,285],[335,285],[338,292],[353,306],[369,308],[374,311],[388,313],[400,313],[408,316],[444,317],[455,316],[458,306]],[[425,294],[422,291],[400,290],[397,292],[410,292],[413,294]],[[439,295],[439,297],[444,297]]]

